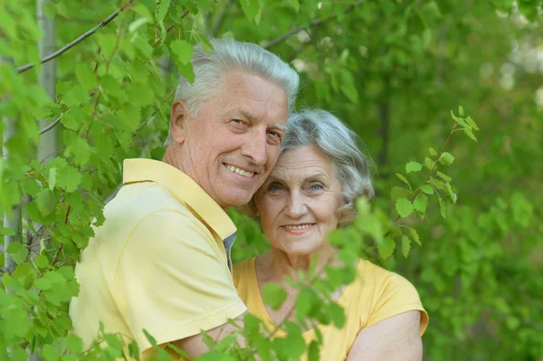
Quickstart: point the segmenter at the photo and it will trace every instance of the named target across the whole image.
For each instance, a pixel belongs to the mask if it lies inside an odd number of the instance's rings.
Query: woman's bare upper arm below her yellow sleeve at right
[[[408,311],[361,329],[348,352],[347,361],[420,361],[423,340],[420,311]]]

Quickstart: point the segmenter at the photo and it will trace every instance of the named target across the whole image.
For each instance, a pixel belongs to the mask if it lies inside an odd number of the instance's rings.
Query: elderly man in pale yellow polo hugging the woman
[[[174,343],[189,356],[246,311],[231,275],[235,227],[224,212],[246,204],[280,153],[299,78],[257,45],[215,40],[195,49],[195,82],[181,78],[162,161],[127,159],[123,187],[81,253],[71,319],[85,346],[108,333],[142,356]],[[167,347],[169,348],[169,347]]]

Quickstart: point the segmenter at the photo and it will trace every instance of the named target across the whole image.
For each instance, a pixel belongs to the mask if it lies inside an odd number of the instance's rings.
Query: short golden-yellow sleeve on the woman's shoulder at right
[[[405,280],[399,274],[390,271],[386,271],[386,273],[386,279],[381,283],[380,292],[377,292],[378,298],[369,315],[366,327],[400,313],[418,310],[421,312],[420,334],[422,336],[428,326],[428,314],[417,290],[409,280]]]

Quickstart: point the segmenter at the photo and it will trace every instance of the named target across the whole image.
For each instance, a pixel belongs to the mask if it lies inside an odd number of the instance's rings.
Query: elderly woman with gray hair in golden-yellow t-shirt
[[[367,158],[356,134],[324,110],[291,116],[281,156],[271,175],[252,198],[271,250],[233,266],[233,280],[250,312],[272,329],[291,314],[297,290],[285,281],[333,260],[327,234],[352,221],[359,196],[373,196]],[[343,328],[318,326],[323,338],[320,359],[420,360],[421,337],[428,316],[413,285],[402,276],[359,260],[357,279],[336,295],[345,309]],[[268,282],[281,283],[288,297],[281,309],[268,308],[261,291]],[[306,343],[314,330],[304,332]]]

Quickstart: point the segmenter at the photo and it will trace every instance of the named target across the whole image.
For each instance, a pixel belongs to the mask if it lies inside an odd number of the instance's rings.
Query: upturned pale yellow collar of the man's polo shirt
[[[135,182],[157,182],[164,186],[178,201],[192,208],[223,240],[236,231],[223,208],[190,176],[175,166],[153,159],[125,159],[123,184]]]

